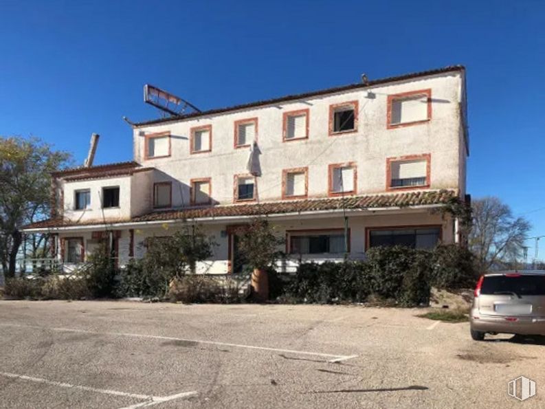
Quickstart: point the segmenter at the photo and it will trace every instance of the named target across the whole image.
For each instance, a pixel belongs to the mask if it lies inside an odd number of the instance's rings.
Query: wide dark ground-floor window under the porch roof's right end
[[[441,227],[392,228],[369,230],[368,247],[404,245],[417,249],[431,249],[441,239]]]

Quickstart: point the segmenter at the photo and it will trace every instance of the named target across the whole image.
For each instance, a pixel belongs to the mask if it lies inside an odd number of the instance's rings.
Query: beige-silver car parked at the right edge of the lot
[[[481,276],[469,315],[471,338],[485,334],[545,335],[545,272]]]

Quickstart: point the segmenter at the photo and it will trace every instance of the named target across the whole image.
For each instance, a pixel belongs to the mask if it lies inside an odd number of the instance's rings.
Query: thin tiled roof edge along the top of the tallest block
[[[302,98],[311,98],[313,96],[320,96],[320,95],[323,95],[323,94],[326,94],[326,93],[351,91],[352,89],[372,87],[374,85],[381,85],[381,84],[385,84],[387,82],[410,80],[412,78],[430,76],[430,75],[434,75],[434,74],[443,74],[443,73],[452,72],[452,71],[464,71],[464,70],[465,70],[465,67],[463,65],[449,65],[448,67],[443,67],[443,68],[438,68],[438,69],[430,69],[428,71],[413,72],[413,73],[404,74],[404,75],[401,75],[401,76],[392,76],[392,77],[387,77],[387,78],[379,78],[377,80],[370,80],[367,84],[359,83],[359,84],[344,85],[342,87],[333,87],[333,88],[327,88],[327,89],[320,89],[319,91],[311,91],[311,92],[299,93],[299,94],[295,94],[295,95],[282,96],[280,98],[272,98],[272,99],[269,99],[269,100],[261,100],[261,101],[256,101],[256,102],[250,102],[249,104],[240,104],[240,105],[234,105],[232,107],[210,109],[208,111],[188,113],[186,115],[178,115],[178,116],[173,116],[173,117],[170,117],[170,118],[159,118],[159,119],[156,119],[156,120],[142,121],[142,122],[137,122],[137,123],[133,124],[133,126],[139,127],[139,126],[148,126],[148,125],[153,125],[153,124],[162,124],[162,123],[166,123],[166,122],[176,122],[176,121],[185,120],[185,119],[188,119],[188,118],[197,118],[199,116],[214,115],[214,114],[217,114],[217,113],[236,111],[238,109],[248,109],[248,108],[253,108],[253,107],[260,107],[261,105],[276,104],[278,102],[287,102],[287,101],[291,101],[291,100],[299,100],[299,99],[302,99]]]

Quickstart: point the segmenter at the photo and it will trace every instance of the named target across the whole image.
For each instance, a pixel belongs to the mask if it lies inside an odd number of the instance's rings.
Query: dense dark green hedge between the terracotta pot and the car
[[[427,305],[431,287],[473,285],[472,266],[471,253],[458,245],[431,251],[375,247],[365,261],[303,263],[279,300],[324,304],[378,298],[403,307]]]

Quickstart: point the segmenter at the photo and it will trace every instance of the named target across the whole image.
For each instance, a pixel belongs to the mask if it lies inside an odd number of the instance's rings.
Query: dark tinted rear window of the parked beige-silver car
[[[485,276],[480,294],[502,292],[519,296],[545,296],[545,276]]]

